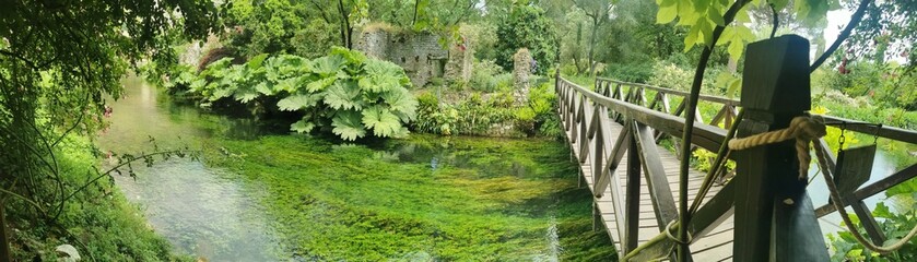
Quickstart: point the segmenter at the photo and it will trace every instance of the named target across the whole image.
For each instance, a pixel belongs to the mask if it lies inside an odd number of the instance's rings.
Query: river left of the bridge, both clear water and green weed
[[[266,132],[137,78],[103,151],[189,146],[201,160],[116,177],[176,251],[210,261],[606,261],[563,142],[412,134],[344,143]],[[278,130],[278,129],[273,129]]]

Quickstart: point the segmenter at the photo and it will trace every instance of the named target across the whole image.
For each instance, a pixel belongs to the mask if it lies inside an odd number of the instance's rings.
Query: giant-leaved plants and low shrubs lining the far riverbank
[[[397,64],[338,47],[313,60],[267,53],[247,61],[210,57],[202,60],[214,61],[197,70],[150,64],[142,73],[203,108],[287,121],[291,131],[331,132],[346,141],[404,138],[411,131],[563,138],[551,81],[534,76],[531,87],[519,92],[508,73],[487,61],[475,63],[481,73],[468,82],[434,79],[414,87]]]

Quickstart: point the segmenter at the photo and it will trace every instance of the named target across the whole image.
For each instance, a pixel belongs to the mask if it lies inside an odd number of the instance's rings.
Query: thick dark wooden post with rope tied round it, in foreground
[[[787,128],[811,107],[809,41],[785,35],[752,43],[742,73],[739,135]],[[828,261],[793,140],[737,154],[736,261]]]

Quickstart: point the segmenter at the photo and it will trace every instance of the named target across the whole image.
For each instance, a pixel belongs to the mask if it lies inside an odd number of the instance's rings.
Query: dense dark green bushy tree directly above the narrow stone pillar
[[[538,72],[543,74],[556,56],[553,47],[551,21],[544,10],[532,5],[517,4],[509,15],[497,25],[496,63],[505,70],[513,69],[513,55],[520,48],[528,48],[538,62]]]

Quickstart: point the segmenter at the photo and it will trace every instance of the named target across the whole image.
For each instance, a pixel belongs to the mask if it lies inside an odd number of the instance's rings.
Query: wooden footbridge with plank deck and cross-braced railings
[[[806,43],[808,45],[808,43]],[[757,97],[756,87],[772,87],[772,94],[778,93],[779,86],[761,86],[761,83],[748,83],[749,69],[753,74],[762,74],[754,64],[762,59],[771,59],[774,53],[757,53],[750,46],[745,64],[743,103],[716,96],[699,96],[704,108],[716,108],[717,112],[704,121],[696,111],[698,122],[692,132],[692,148],[718,152],[727,138],[728,129],[737,120],[738,108],[754,112],[737,127],[740,135],[760,133],[788,124],[787,116],[808,115],[803,110],[779,112],[784,108],[771,110]],[[808,52],[808,47],[806,49]],[[777,56],[779,57],[779,56]],[[808,66],[808,55],[804,56]],[[792,60],[792,59],[787,59]],[[792,63],[793,61],[781,61]],[[800,61],[795,61],[801,63]],[[773,64],[768,64],[773,69]],[[808,69],[808,67],[807,67]],[[764,70],[768,71],[768,70]],[[785,82],[787,72],[780,67],[764,72]],[[759,78],[760,79],[760,78]],[[808,72],[804,78],[804,109],[809,108]],[[767,81],[763,81],[768,83]],[[771,82],[774,85],[774,82]],[[776,83],[786,86],[787,83]],[[792,85],[792,84],[790,84]],[[798,86],[798,85],[797,85]],[[795,86],[796,87],[796,86]],[[801,90],[801,88],[799,88]],[[597,230],[607,230],[619,251],[619,258],[630,253],[632,261],[655,259],[675,260],[673,255],[677,228],[671,235],[665,231],[670,223],[679,223],[679,210],[675,207],[679,195],[680,157],[672,154],[668,144],[678,148],[684,131],[686,92],[674,91],[645,84],[626,83],[608,79],[598,79],[593,86],[584,87],[560,75],[555,80],[559,114],[566,130],[566,138],[572,153],[579,162],[581,178],[595,195],[593,226]],[[775,92],[777,91],[777,92]],[[780,92],[792,96],[800,91]],[[746,93],[746,94],[744,94]],[[766,96],[766,95],[765,95]],[[792,100],[789,98],[788,100]],[[780,102],[784,103],[784,102]],[[677,105],[677,106],[675,106]],[[785,106],[785,105],[780,105]],[[800,106],[797,106],[800,107]],[[792,106],[790,106],[792,108]],[[762,112],[763,111],[763,112]],[[773,112],[777,111],[777,112]],[[761,116],[765,116],[762,120]],[[771,116],[767,118],[767,116]],[[877,138],[917,144],[917,132],[897,128],[867,124],[855,120],[823,116],[826,122],[843,124],[846,130],[860,132]],[[755,122],[757,121],[757,122]],[[762,123],[762,121],[764,123]],[[786,123],[780,123],[786,121]],[[667,142],[661,142],[667,141]],[[661,142],[661,143],[660,143]],[[828,148],[824,140],[815,141]],[[786,153],[792,150],[785,144],[761,146],[746,153],[727,154],[730,160],[738,163],[736,170],[720,169],[716,174],[690,171],[686,202],[694,202],[702,188],[708,189],[706,196],[698,202],[699,209],[691,215],[687,233],[690,240],[689,260],[696,261],[827,261],[827,248],[815,219],[833,211],[833,205],[815,209],[806,192],[806,181],[796,179],[798,172],[792,157],[775,157],[775,152]],[[874,147],[872,148],[874,154]],[[827,151],[827,150],[826,150]],[[863,222],[868,236],[873,242],[883,243],[885,236],[878,228],[875,219],[862,200],[917,176],[917,165],[912,165],[874,183],[862,186],[862,162],[835,163],[831,152],[826,163],[835,170],[847,168],[845,177],[835,178],[838,187],[845,188],[840,194],[844,204],[849,205]],[[768,155],[769,154],[769,155]],[[850,153],[853,154],[853,153]],[[716,154],[709,154],[716,155]],[[796,156],[790,152],[791,156]],[[706,156],[704,156],[706,157]],[[871,155],[869,155],[871,158]],[[775,159],[779,158],[779,159]],[[774,163],[780,165],[774,165]],[[709,163],[714,163],[713,158]],[[749,166],[753,166],[750,169]],[[871,166],[871,160],[869,160]],[[858,169],[861,170],[861,169]],[[736,174],[738,171],[738,175]],[[778,175],[775,175],[778,174]],[[779,175],[783,174],[783,175]],[[848,175],[848,174],[859,174]],[[869,178],[869,170],[866,170]],[[780,179],[778,176],[792,177]],[[737,179],[732,179],[732,178]],[[773,181],[773,182],[772,182]],[[704,183],[710,187],[704,187]],[[790,190],[779,189],[790,188]],[[787,203],[787,204],[781,204]],[[773,206],[773,207],[772,207]],[[783,239],[775,241],[775,239]]]

